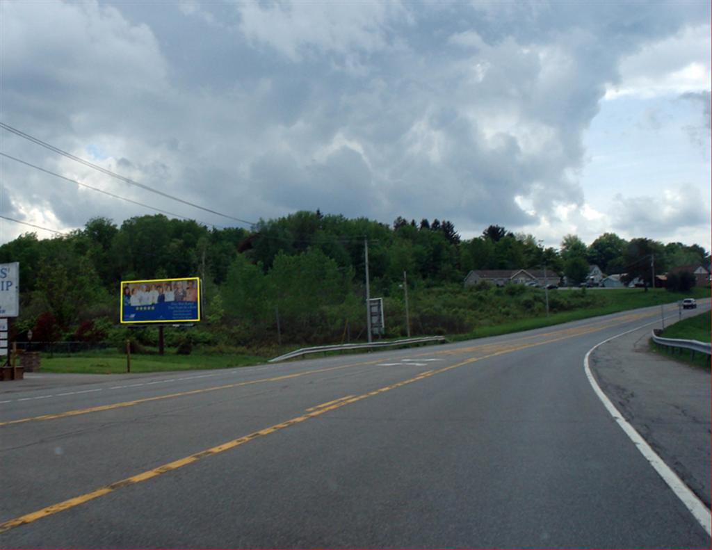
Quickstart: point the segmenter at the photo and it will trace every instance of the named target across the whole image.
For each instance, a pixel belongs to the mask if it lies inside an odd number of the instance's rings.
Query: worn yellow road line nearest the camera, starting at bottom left
[[[448,370],[453,370],[455,368],[459,368],[463,365],[468,365],[470,363],[475,363],[476,361],[479,361],[479,360],[500,356],[500,355],[503,355],[504,353],[511,353],[513,351],[519,351],[519,350],[523,350],[526,348],[533,348],[536,346],[545,346],[548,343],[554,343],[554,342],[565,340],[568,338],[573,338],[575,336],[581,336],[583,334],[600,331],[600,330],[602,330],[602,328],[607,328],[608,326],[615,326],[616,324],[618,324],[618,323],[611,323],[607,326],[582,327],[581,328],[582,330],[578,331],[575,334],[565,334],[564,336],[560,336],[559,338],[553,338],[551,340],[522,344],[520,346],[502,349],[501,351],[496,351],[496,352],[490,353],[485,356],[476,357],[476,358],[468,358],[466,360],[461,361],[460,363],[456,363],[454,365],[450,365],[448,367],[440,368],[437,370],[427,370],[426,372],[420,373],[419,375],[414,376],[412,378],[408,378],[407,380],[402,380],[401,382],[387,385],[387,386],[384,386],[383,388],[378,388],[377,390],[372,390],[367,393],[362,393],[361,395],[347,395],[344,398],[335,399],[333,401],[329,401],[328,403],[323,403],[321,405],[317,405],[316,407],[308,409],[304,415],[300,415],[300,416],[291,418],[290,420],[286,420],[285,422],[280,422],[279,424],[275,424],[270,427],[263,428],[262,430],[252,432],[248,435],[238,437],[237,439],[222,443],[221,445],[216,445],[215,447],[210,447],[209,449],[206,449],[201,452],[197,452],[194,455],[189,455],[188,457],[184,457],[179,460],[174,460],[173,462],[168,462],[167,464],[147,470],[146,472],[142,472],[140,474],[136,474],[132,477],[127,477],[125,479],[121,479],[120,481],[105,485],[104,487],[99,487],[98,489],[95,489],[91,492],[81,494],[78,497],[73,497],[71,499],[67,499],[62,502],[58,502],[57,504],[52,504],[51,506],[36,510],[35,512],[30,512],[29,514],[24,514],[23,516],[16,517],[16,518],[10,519],[6,522],[0,523],[0,533],[2,533],[4,531],[8,531],[9,529],[13,529],[14,527],[17,527],[17,526],[20,526],[23,524],[36,522],[38,519],[41,519],[43,517],[48,517],[48,516],[51,516],[52,514],[56,514],[58,512],[63,512],[64,510],[79,506],[80,504],[84,504],[85,502],[89,502],[90,500],[102,497],[103,495],[108,494],[110,492],[114,492],[117,489],[120,489],[122,487],[128,487],[129,485],[135,485],[137,483],[144,482],[144,481],[147,481],[148,479],[157,477],[160,474],[164,474],[166,472],[172,472],[175,469],[182,468],[184,466],[192,464],[193,462],[197,462],[198,460],[201,460],[205,457],[217,455],[220,452],[225,452],[226,450],[234,449],[235,447],[244,445],[244,443],[246,443],[248,441],[252,441],[258,437],[263,437],[263,436],[269,435],[273,432],[277,432],[278,430],[283,430],[284,428],[289,427],[291,425],[299,424],[300,422],[304,422],[305,420],[309,420],[310,418],[318,417],[318,416],[328,413],[332,410],[344,407],[345,405],[357,403],[357,401],[373,397],[374,395],[386,393],[390,390],[394,390],[396,388],[401,388],[404,385],[412,384],[414,382],[418,382],[419,380],[424,380],[425,378],[429,378],[436,374],[444,373]],[[362,363],[362,364],[367,364],[367,363]],[[324,370],[335,370],[335,368],[322,369],[321,371],[323,372]],[[313,372],[316,372],[316,371],[313,371]],[[278,378],[294,378],[295,376],[296,375],[287,375],[285,377],[278,377]],[[239,385],[239,384],[234,384],[234,385],[229,385],[229,386],[224,386],[224,387],[234,387],[236,385]],[[219,388],[223,388],[223,387],[219,387]],[[218,389],[218,388],[215,388],[215,389]],[[200,391],[205,391],[205,390],[196,390],[197,393]]]

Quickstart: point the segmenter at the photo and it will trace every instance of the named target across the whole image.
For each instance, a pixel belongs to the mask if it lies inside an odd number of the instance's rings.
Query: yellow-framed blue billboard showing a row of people
[[[200,321],[200,279],[121,281],[122,323]]]

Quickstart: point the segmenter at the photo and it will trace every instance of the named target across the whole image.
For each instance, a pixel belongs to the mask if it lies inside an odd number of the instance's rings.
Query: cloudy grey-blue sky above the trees
[[[318,208],[710,249],[710,18],[708,1],[677,0],[2,1],[0,121],[248,222]],[[0,140],[85,185],[240,225]],[[5,217],[66,231],[154,212],[0,163]],[[0,242],[28,230],[2,220]]]

